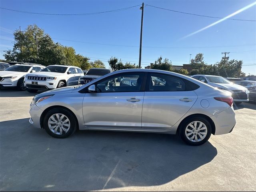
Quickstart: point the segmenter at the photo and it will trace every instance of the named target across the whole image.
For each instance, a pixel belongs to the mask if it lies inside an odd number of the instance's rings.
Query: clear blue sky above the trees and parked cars
[[[115,10],[139,5],[142,2],[134,0],[0,0],[0,7],[28,12],[77,14]],[[144,1],[145,4],[152,6],[216,17],[228,16],[253,2],[247,0]],[[256,6],[232,18],[256,20]],[[2,51],[13,45],[11,40],[13,36],[9,30],[13,31],[19,26],[24,30],[30,24],[37,24],[50,34],[55,42],[72,46],[76,53],[88,56],[92,60],[100,58],[107,67],[108,64],[105,61],[111,56],[137,64],[140,19],[139,6],[119,12],[87,16],[50,16],[0,10],[0,58],[4,58]],[[220,61],[222,52],[230,52],[230,59],[243,60],[243,72],[256,74],[256,65],[248,66],[248,64],[256,64],[256,22],[225,20],[202,32],[181,39],[218,20],[145,6],[142,67],[154,62],[159,56],[170,59],[173,65],[188,64],[190,54],[192,54],[191,58],[194,58],[197,53],[203,53],[205,61],[208,64],[214,64]]]

